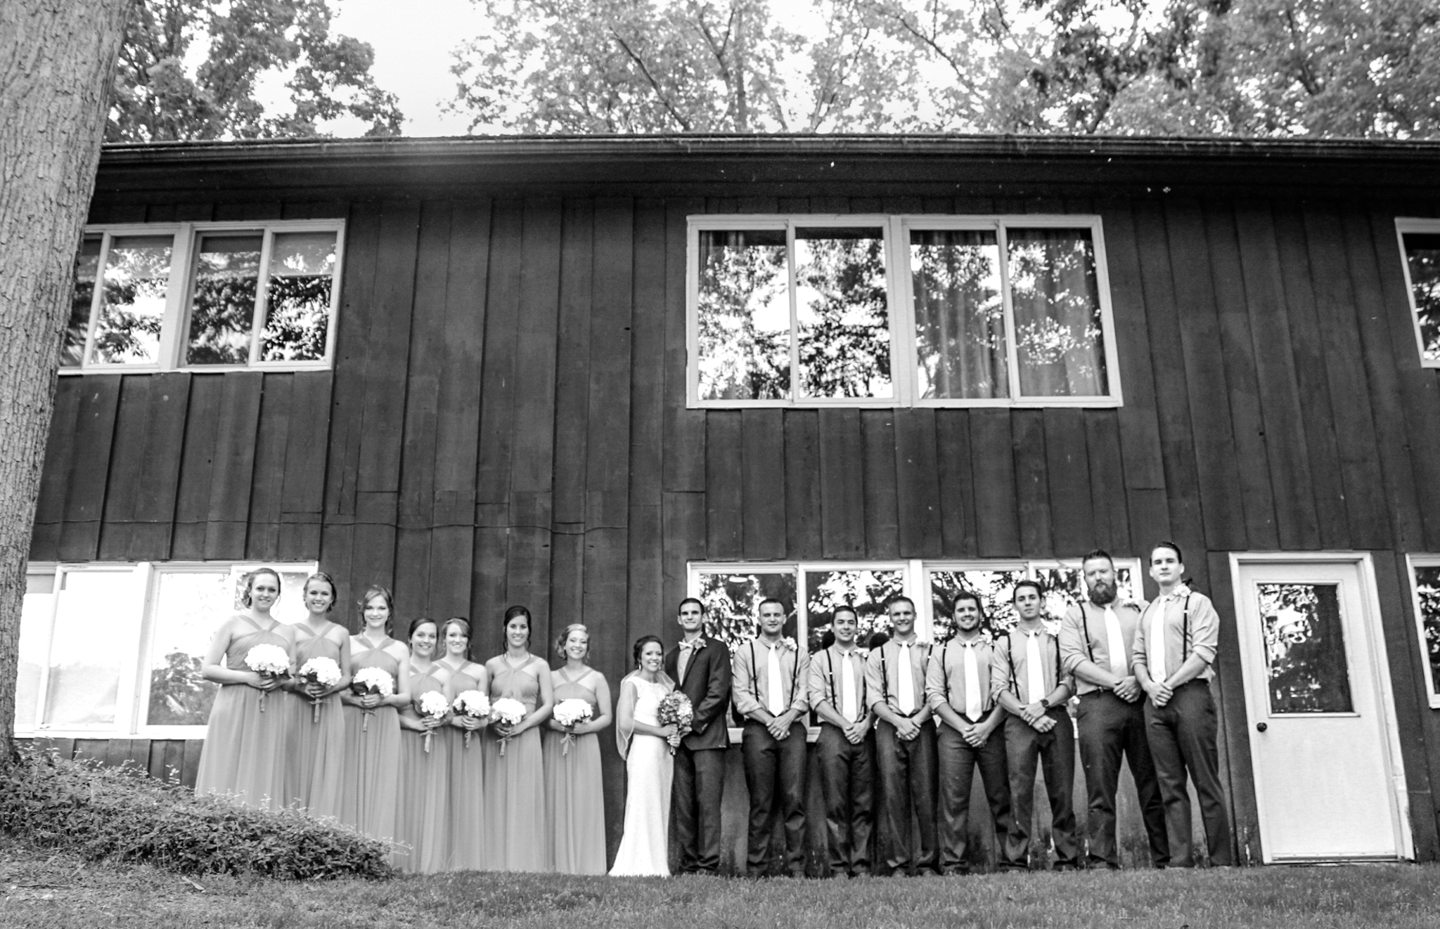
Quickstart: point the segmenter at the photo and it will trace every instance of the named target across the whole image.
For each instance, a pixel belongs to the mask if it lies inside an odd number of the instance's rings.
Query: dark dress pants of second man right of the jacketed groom
[[[874,738],[867,733],[860,745],[851,745],[840,726],[822,722],[815,758],[819,762],[821,788],[825,791],[829,873],[835,877],[868,874],[874,815]]]

